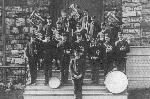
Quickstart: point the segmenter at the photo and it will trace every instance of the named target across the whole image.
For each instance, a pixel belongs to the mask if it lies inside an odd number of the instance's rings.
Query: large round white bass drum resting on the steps
[[[122,93],[128,86],[128,79],[123,72],[112,71],[107,74],[104,84],[111,93]]]

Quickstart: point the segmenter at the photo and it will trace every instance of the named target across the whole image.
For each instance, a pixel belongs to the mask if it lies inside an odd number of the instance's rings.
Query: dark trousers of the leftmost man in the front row
[[[31,83],[36,83],[37,62],[38,62],[37,58],[35,58],[35,57],[29,58],[29,69],[30,69],[30,74],[31,74]]]

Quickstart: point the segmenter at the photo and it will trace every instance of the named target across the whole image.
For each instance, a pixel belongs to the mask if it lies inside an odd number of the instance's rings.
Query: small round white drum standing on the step
[[[49,80],[49,86],[51,88],[58,88],[60,86],[60,80],[57,77],[52,77]]]

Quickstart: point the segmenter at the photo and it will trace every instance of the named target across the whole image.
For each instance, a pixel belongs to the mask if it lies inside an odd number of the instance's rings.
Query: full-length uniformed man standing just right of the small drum
[[[71,53],[71,44],[67,40],[67,36],[64,33],[62,35],[62,41],[57,44],[59,48],[60,54],[60,78],[61,84],[67,84],[68,81],[68,70],[69,70],[69,62],[70,62],[70,53]]]

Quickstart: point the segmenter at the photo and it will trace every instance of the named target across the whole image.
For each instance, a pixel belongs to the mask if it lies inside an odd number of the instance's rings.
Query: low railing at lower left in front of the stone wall
[[[26,66],[0,66],[0,83],[26,85]]]

